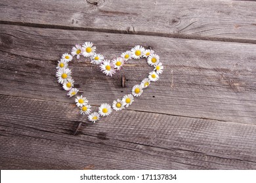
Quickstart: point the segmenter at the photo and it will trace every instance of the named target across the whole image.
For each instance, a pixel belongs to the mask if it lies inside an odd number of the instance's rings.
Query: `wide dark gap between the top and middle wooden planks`
[[[144,32],[144,31],[122,31],[115,29],[96,29],[90,27],[70,27],[65,25],[51,25],[51,24],[35,24],[29,22],[7,22],[0,20],[0,24],[6,25],[20,25],[24,27],[35,27],[35,28],[43,28],[43,29],[64,29],[64,30],[72,30],[72,31],[93,31],[98,33],[117,33],[117,34],[132,34],[132,35],[147,35],[154,37],[168,37],[175,39],[194,39],[194,40],[202,40],[202,41],[217,41],[217,42],[241,42],[241,43],[249,43],[256,44],[256,40],[250,39],[231,39],[231,38],[218,38],[218,37],[201,37],[201,36],[193,36],[193,35],[182,35],[182,34],[171,34],[171,33],[155,33],[155,32]]]

